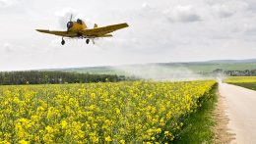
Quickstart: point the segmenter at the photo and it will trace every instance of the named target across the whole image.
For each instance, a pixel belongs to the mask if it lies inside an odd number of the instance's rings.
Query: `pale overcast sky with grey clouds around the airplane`
[[[66,40],[69,15],[114,37]],[[0,0],[0,71],[256,58],[255,0]]]

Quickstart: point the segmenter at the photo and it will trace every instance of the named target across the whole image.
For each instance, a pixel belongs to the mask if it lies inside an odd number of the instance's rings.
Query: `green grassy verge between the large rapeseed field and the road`
[[[202,97],[199,101],[199,107],[193,114],[185,116],[181,119],[184,127],[173,143],[197,144],[197,143],[213,143],[214,132],[212,126],[215,121],[212,118],[212,112],[217,102],[217,84],[213,89]]]

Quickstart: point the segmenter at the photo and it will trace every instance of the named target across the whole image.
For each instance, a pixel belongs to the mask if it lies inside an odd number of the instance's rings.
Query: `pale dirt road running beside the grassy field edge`
[[[231,143],[256,144],[256,91],[220,82],[227,106],[227,128],[235,134]]]

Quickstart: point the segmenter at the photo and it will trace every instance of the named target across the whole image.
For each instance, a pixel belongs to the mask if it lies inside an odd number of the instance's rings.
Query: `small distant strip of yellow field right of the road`
[[[230,76],[225,78],[224,82],[229,82],[229,83],[256,82],[256,76]]]

